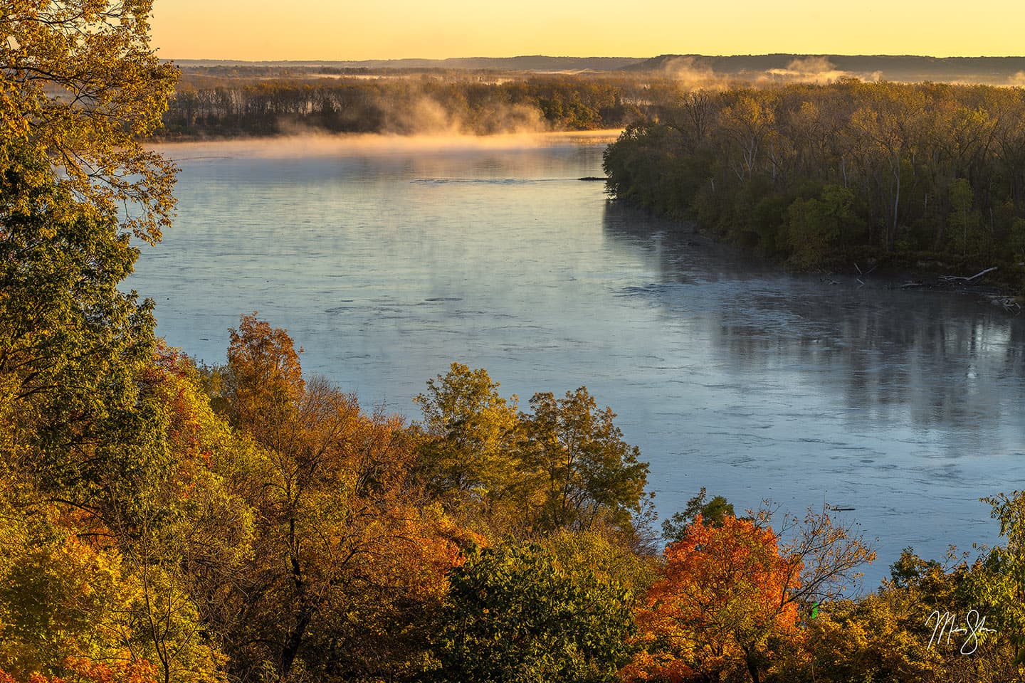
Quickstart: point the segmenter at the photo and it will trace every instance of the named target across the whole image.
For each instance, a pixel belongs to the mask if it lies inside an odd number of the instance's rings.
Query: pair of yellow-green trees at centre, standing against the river
[[[585,387],[539,392],[517,413],[484,370],[453,364],[427,382],[418,478],[449,509],[500,536],[605,526],[636,540],[648,510],[648,464],[615,414]]]

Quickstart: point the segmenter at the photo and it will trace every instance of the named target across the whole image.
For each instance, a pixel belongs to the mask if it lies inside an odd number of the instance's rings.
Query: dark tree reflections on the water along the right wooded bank
[[[852,423],[953,423],[957,439],[1021,444],[1025,424],[1001,412],[1022,397],[1021,321],[969,296],[781,275],[616,205],[604,222],[608,236],[648,252],[661,278],[626,294],[654,302],[668,324],[704,321],[689,334],[723,349],[728,369],[828,385],[857,409]]]

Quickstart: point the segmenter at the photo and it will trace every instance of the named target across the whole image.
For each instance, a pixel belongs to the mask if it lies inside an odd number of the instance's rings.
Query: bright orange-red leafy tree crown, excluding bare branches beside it
[[[799,556],[782,557],[769,527],[727,515],[700,515],[665,550],[661,580],[637,613],[643,650],[621,672],[626,681],[758,683],[776,645],[799,637]]]

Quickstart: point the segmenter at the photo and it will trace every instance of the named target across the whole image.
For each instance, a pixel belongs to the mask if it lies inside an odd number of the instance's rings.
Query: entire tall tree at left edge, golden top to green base
[[[149,44],[148,0],[0,10],[0,439],[54,502],[106,523],[169,466],[140,386],[152,302],[118,285],[132,231],[168,224],[173,166],[138,137],[174,70]]]

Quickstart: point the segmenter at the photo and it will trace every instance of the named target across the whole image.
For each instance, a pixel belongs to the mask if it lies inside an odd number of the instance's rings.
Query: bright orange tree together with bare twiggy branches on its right
[[[684,527],[638,610],[644,651],[624,669],[626,680],[757,683],[802,656],[799,610],[845,595],[874,553],[827,510],[809,510],[804,520],[787,515],[778,533],[771,521],[764,508],[719,524],[699,514]]]

